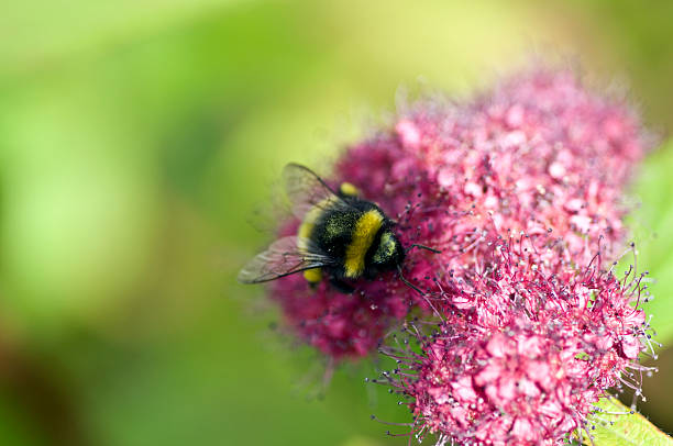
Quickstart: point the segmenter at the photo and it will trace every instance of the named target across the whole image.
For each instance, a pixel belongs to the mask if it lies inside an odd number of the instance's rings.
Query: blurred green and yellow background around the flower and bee
[[[313,398],[320,359],[234,281],[268,236],[250,216],[285,163],[326,168],[399,91],[464,96],[531,56],[628,87],[665,147],[672,20],[666,1],[2,2],[0,444],[406,444],[369,420],[408,421],[372,365]],[[672,149],[630,199],[669,345]],[[670,432],[658,363],[642,410]]]

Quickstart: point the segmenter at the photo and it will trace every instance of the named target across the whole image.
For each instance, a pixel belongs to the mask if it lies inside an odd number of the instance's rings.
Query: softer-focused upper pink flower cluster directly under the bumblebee
[[[273,282],[271,296],[299,338],[336,360],[374,352],[413,309],[428,317],[482,314],[492,294],[472,296],[466,285],[479,268],[500,265],[492,247],[501,237],[523,233],[529,248],[542,253],[531,260],[541,266],[587,265],[598,249],[614,254],[625,235],[622,188],[646,145],[624,103],[586,90],[570,71],[514,76],[465,103],[420,100],[347,148],[329,180],[355,185],[396,219],[404,246],[442,249],[409,252],[407,279],[432,293],[441,283],[455,289],[428,299],[390,272],[353,283],[355,292],[344,294],[327,282],[312,290],[295,275]],[[550,231],[556,252],[545,248]],[[516,279],[509,286],[520,288]],[[570,286],[563,282],[570,276],[554,280],[553,290]]]

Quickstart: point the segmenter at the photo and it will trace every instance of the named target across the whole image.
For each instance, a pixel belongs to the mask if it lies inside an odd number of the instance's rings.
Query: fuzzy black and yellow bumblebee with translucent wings
[[[340,291],[350,293],[349,282],[373,279],[384,271],[399,271],[407,250],[394,232],[396,222],[375,203],[358,197],[344,182],[332,190],[309,168],[288,164],[283,170],[291,212],[300,220],[297,235],[272,243],[239,274],[242,283],[261,283],[294,274],[304,274],[311,287],[326,278]],[[434,253],[437,249],[413,244]],[[421,292],[422,293],[422,292]]]

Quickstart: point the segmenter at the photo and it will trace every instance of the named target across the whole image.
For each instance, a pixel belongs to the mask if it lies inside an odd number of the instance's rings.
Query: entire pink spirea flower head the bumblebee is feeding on
[[[606,389],[642,372],[640,276],[602,260],[624,242],[622,189],[647,149],[641,123],[570,71],[515,76],[468,103],[430,98],[347,149],[349,181],[398,220],[413,249],[397,274],[343,294],[301,277],[272,285],[288,324],[334,359],[356,358],[410,311],[406,368],[415,430],[444,441],[553,443],[584,426]]]

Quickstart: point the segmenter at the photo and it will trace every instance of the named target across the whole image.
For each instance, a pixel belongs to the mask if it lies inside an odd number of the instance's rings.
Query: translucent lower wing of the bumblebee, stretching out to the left
[[[311,268],[333,265],[334,261],[322,254],[298,247],[299,237],[289,236],[277,239],[264,253],[257,254],[250,260],[241,272],[239,281],[242,283],[260,283],[289,276]],[[309,244],[309,241],[302,241]]]

